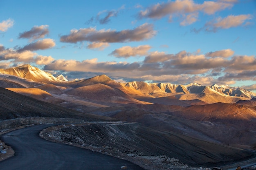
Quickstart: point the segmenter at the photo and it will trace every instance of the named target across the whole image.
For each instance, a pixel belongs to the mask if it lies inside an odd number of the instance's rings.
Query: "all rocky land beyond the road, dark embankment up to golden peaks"
[[[61,127],[52,129],[49,140],[98,151],[106,146],[112,155],[119,150],[119,156],[147,157],[151,163],[179,159],[193,167],[223,166],[255,153],[256,94],[239,87],[119,83],[107,75],[68,81],[28,64],[0,69],[0,87],[0,121],[51,117],[130,123]]]

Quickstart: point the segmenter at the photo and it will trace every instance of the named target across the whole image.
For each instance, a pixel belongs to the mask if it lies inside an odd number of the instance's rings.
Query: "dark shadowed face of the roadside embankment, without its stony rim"
[[[177,158],[189,166],[223,166],[256,155],[252,151],[214,144],[134,123],[58,127],[49,130],[54,139],[81,146],[108,146],[112,150],[121,152],[137,150],[142,155],[148,156],[166,155]]]

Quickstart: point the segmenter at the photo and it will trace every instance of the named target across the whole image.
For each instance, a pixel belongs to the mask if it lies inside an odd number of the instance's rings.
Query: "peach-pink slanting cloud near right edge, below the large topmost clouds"
[[[205,24],[205,31],[216,32],[218,29],[229,29],[245,25],[245,21],[251,20],[252,15],[229,15],[226,18],[218,18],[217,20],[207,22]]]

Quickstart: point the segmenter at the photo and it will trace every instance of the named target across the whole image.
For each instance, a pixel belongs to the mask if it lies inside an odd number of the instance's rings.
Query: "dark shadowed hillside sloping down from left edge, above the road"
[[[20,95],[5,88],[0,88],[0,102],[0,120],[14,119],[17,117],[72,117],[88,121],[116,120],[109,117],[81,113],[76,110],[56,106],[25,95]]]

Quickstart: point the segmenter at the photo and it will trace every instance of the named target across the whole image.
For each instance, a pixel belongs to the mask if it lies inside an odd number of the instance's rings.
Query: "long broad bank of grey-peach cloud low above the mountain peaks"
[[[168,54],[155,51],[141,62],[98,62],[96,58],[83,61],[54,60],[44,68],[79,73],[80,76],[83,73],[107,74],[115,79],[179,84],[234,84],[236,81],[256,80],[256,57],[237,56],[231,49],[206,54],[187,51]]]

